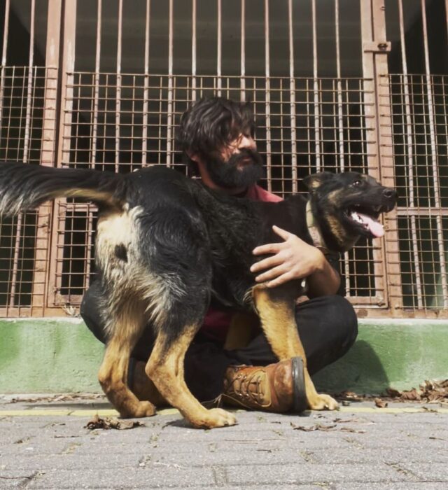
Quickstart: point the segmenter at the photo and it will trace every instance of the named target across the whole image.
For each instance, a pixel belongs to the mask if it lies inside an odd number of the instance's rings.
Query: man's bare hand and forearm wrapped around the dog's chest
[[[274,288],[293,279],[307,277],[309,297],[336,294],[341,279],[325,255],[293,233],[277,226],[273,230],[284,241],[261,245],[253,250],[254,255],[272,254],[251,267],[251,272],[265,271],[258,274],[255,281],[269,281],[267,286]]]

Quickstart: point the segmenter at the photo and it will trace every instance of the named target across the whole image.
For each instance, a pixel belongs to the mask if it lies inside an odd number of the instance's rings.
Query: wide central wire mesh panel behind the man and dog
[[[221,95],[245,99],[253,107],[255,140],[265,158],[262,184],[284,197],[303,192],[302,178],[312,172],[374,170],[369,166],[374,155],[367,151],[374,141],[366,127],[372,116],[366,110],[370,102],[365,102],[372,90],[372,80],[362,78],[71,73],[62,165],[123,173],[169,165],[188,173],[176,150],[176,125],[195,100]],[[52,301],[78,304],[94,273],[96,211],[69,200],[59,204],[57,216]],[[355,302],[363,297],[363,304],[378,304],[373,250],[364,241],[342,261],[346,294]]]

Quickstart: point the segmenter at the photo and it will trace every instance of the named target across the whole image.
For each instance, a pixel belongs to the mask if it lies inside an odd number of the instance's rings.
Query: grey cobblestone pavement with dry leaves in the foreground
[[[448,489],[446,405],[238,411],[237,426],[215,430],[165,409],[144,426],[90,430],[116,412],[69,398],[0,396],[1,489]]]

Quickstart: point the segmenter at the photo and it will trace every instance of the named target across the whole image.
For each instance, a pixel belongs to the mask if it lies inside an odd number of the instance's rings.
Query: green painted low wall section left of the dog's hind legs
[[[0,321],[0,392],[101,391],[102,352],[80,320]]]

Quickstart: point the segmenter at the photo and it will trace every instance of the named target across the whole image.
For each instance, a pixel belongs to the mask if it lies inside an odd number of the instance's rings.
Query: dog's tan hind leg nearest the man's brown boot
[[[206,409],[190,393],[183,375],[183,360],[200,323],[187,325],[181,335],[169,339],[160,331],[151,357],[146,365],[146,374],[157,386],[160,394],[170,405],[196,428],[232,426],[235,416],[221,408]]]

